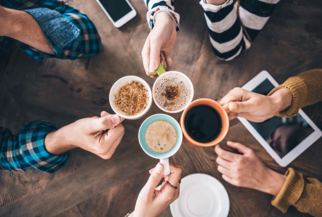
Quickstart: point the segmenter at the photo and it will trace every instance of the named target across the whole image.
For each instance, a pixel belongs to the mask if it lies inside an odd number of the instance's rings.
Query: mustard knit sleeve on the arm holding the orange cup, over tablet
[[[275,91],[287,88],[293,95],[292,104],[279,112],[279,117],[292,117],[298,114],[301,107],[322,101],[322,69],[313,69],[290,77],[283,84],[271,90],[268,96]]]

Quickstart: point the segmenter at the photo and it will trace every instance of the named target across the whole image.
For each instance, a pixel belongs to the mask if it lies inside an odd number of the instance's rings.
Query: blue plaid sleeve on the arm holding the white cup
[[[53,173],[67,161],[69,155],[50,154],[45,147],[45,137],[57,130],[57,126],[44,121],[24,125],[18,135],[0,127],[0,169],[20,171],[36,168]]]

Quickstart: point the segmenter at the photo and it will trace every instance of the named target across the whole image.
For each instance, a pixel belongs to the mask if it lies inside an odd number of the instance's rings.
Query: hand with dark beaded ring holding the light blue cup
[[[161,163],[158,163],[154,169],[150,170],[150,178],[139,193],[135,210],[130,216],[157,216],[179,197],[180,165],[170,163],[171,173],[169,175],[163,175],[163,170],[164,167]],[[164,178],[163,183],[158,186],[162,178]],[[177,189],[171,188],[166,181],[177,187]]]

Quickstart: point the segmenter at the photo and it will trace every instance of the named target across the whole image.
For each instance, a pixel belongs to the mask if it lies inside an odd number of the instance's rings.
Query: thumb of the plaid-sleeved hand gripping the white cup
[[[108,115],[101,118],[92,118],[88,124],[91,130],[101,131],[111,129],[121,122],[121,118],[118,115]]]

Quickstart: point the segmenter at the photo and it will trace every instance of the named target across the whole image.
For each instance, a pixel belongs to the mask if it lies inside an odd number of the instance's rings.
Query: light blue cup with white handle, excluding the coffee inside
[[[155,152],[153,150],[151,150],[146,142],[146,131],[148,129],[148,127],[156,121],[167,121],[170,124],[172,124],[176,130],[176,143],[174,145],[174,147],[165,153],[158,153]],[[145,153],[147,153],[149,156],[156,158],[156,159],[160,159],[160,162],[163,164],[164,166],[164,175],[168,175],[170,174],[170,167],[169,167],[169,157],[171,157],[172,155],[174,155],[180,148],[181,143],[182,143],[182,130],[180,127],[180,124],[171,116],[168,115],[164,115],[164,114],[156,114],[156,115],[152,115],[149,118],[147,118],[140,126],[140,129],[138,131],[138,141],[140,143],[141,148],[143,149],[143,151],[145,151]]]

